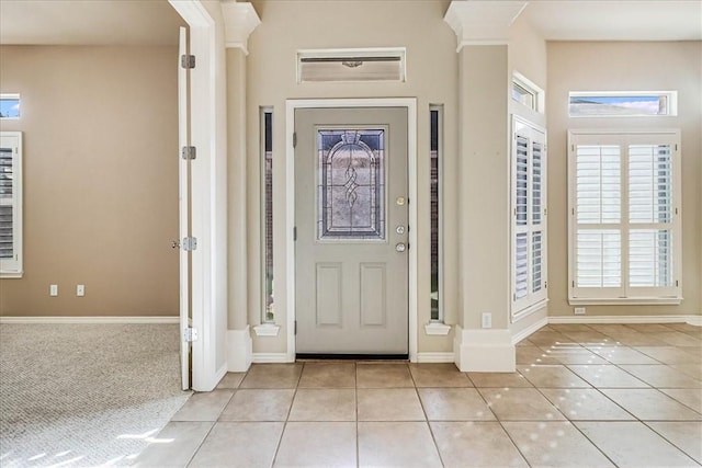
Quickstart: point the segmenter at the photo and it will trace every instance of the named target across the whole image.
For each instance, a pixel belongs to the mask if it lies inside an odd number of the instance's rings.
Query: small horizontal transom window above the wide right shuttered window
[[[665,92],[571,92],[570,117],[647,117],[677,115],[678,93]]]

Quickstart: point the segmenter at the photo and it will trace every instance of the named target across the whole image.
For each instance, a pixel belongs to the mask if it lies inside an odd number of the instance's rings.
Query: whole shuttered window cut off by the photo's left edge
[[[22,276],[22,134],[0,132],[0,277]]]

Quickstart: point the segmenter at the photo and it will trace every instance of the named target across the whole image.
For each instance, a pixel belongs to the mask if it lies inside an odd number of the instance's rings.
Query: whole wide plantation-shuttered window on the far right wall
[[[680,301],[679,140],[569,133],[571,304]]]

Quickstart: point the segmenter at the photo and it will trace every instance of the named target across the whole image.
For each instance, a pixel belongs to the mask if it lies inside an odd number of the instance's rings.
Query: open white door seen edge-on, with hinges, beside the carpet
[[[188,54],[188,28],[180,28],[178,54],[178,150],[189,146],[190,141],[190,111],[189,111],[189,72],[180,64],[180,58]],[[180,366],[182,388],[186,390],[191,385],[191,344],[185,339],[190,328],[190,260],[191,254],[183,249],[182,239],[190,236],[190,160],[178,156],[179,162],[179,246],[180,246]]]

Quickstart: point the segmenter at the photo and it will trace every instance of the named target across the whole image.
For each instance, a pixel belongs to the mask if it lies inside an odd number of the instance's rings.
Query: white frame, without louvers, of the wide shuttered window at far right
[[[620,145],[621,160],[621,219],[603,224],[603,229],[621,232],[621,285],[620,287],[577,287],[576,238],[576,157],[577,146]],[[629,145],[670,145],[672,162],[672,285],[663,287],[633,287],[629,285],[629,232],[642,224],[629,219]],[[682,174],[679,129],[571,129],[568,130],[568,301],[570,305],[678,305],[682,300]],[[633,226],[633,227],[632,227]],[[645,226],[645,225],[644,225]],[[639,227],[641,229],[642,227]],[[653,227],[654,229],[656,227]]]

